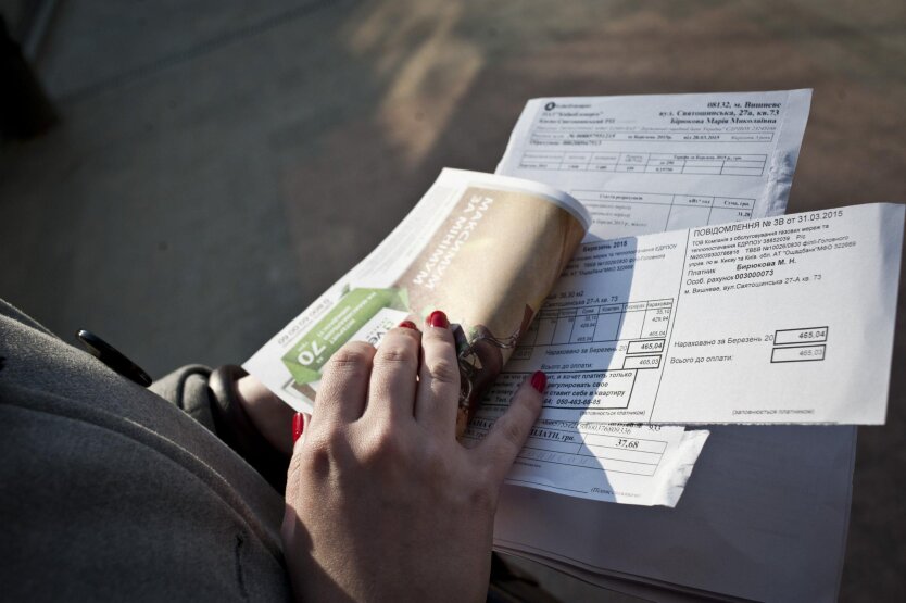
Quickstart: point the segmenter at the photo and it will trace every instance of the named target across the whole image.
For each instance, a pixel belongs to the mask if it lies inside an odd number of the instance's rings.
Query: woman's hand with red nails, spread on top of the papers
[[[460,373],[443,313],[424,334],[392,329],[378,350],[340,349],[289,469],[282,538],[298,599],[483,601],[498,493],[544,381],[525,382],[466,449],[454,436]]]

